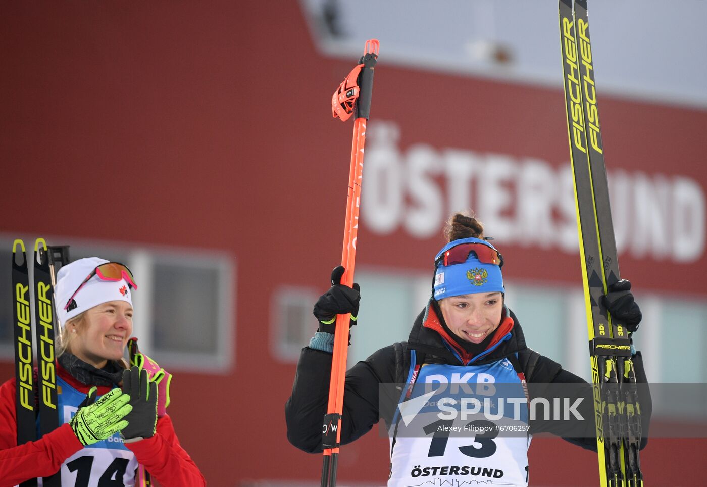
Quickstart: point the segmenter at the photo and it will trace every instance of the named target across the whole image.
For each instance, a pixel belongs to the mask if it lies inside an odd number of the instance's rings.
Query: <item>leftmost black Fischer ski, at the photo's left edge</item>
[[[18,247],[21,252],[18,252]],[[15,343],[17,444],[37,440],[36,397],[33,383],[32,318],[30,312],[30,274],[27,269],[25,243],[15,240],[12,245],[12,301]],[[20,484],[37,486],[37,479]]]

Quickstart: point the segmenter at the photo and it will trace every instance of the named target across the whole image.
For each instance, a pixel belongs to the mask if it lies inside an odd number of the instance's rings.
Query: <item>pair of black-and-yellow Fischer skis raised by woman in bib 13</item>
[[[641,426],[626,329],[600,298],[619,281],[586,0],[559,1],[563,86],[588,314],[602,486],[642,486]],[[621,385],[621,382],[624,382]]]

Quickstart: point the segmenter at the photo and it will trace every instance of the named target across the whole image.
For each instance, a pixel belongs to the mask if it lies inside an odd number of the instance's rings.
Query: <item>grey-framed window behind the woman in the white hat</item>
[[[76,239],[52,238],[54,242]],[[33,240],[25,240],[31,246]],[[13,239],[0,235],[0,358],[14,360],[11,307],[11,248]],[[233,363],[233,280],[235,264],[226,254],[202,250],[76,242],[71,261],[99,256],[130,267],[138,290],[134,293],[134,336],[139,346],[160,365],[173,370],[226,372]],[[31,259],[31,255],[29,257]],[[30,271],[31,274],[31,271]],[[34,311],[34,310],[33,310]]]

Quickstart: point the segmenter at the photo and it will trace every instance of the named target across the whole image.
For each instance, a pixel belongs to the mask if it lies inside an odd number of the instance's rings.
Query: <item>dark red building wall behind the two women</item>
[[[177,372],[170,414],[210,485],[316,480],[320,456],[285,438],[294,368],[270,355],[269,303],[282,284],[323,289],[339,260],[351,125],[331,119],[329,99],[355,59],[317,52],[293,1],[5,2],[2,10],[0,232],[233,254],[235,364],[225,376]],[[399,124],[403,148],[425,142],[554,167],[568,160],[557,88],[390,66],[384,44],[374,93],[372,120]],[[689,175],[707,187],[707,112],[600,97],[609,168]],[[364,195],[365,180],[364,170]],[[365,225],[358,242],[358,264],[421,271],[440,247],[439,237]],[[544,281],[578,282],[576,254],[521,245],[504,247],[518,263],[508,276],[537,276],[527,252],[556,256]],[[688,264],[626,254],[621,269],[636,288],[660,289],[656,273],[669,272],[707,294],[704,254]],[[0,363],[0,376],[11,375],[11,363]],[[592,454],[536,443],[539,485],[595,483]],[[665,466],[697,465],[706,446],[651,440],[645,474],[654,485],[680,485]],[[344,447],[339,478],[382,484],[387,468],[387,441],[374,433]],[[677,478],[689,483],[686,471]]]

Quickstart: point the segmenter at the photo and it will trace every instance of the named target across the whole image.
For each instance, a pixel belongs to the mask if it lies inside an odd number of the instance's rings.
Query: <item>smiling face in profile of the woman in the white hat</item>
[[[83,326],[69,346],[71,353],[95,368],[103,368],[107,360],[122,358],[132,335],[133,309],[125,301],[108,301],[94,306],[84,314]],[[73,324],[68,326],[75,326]]]

